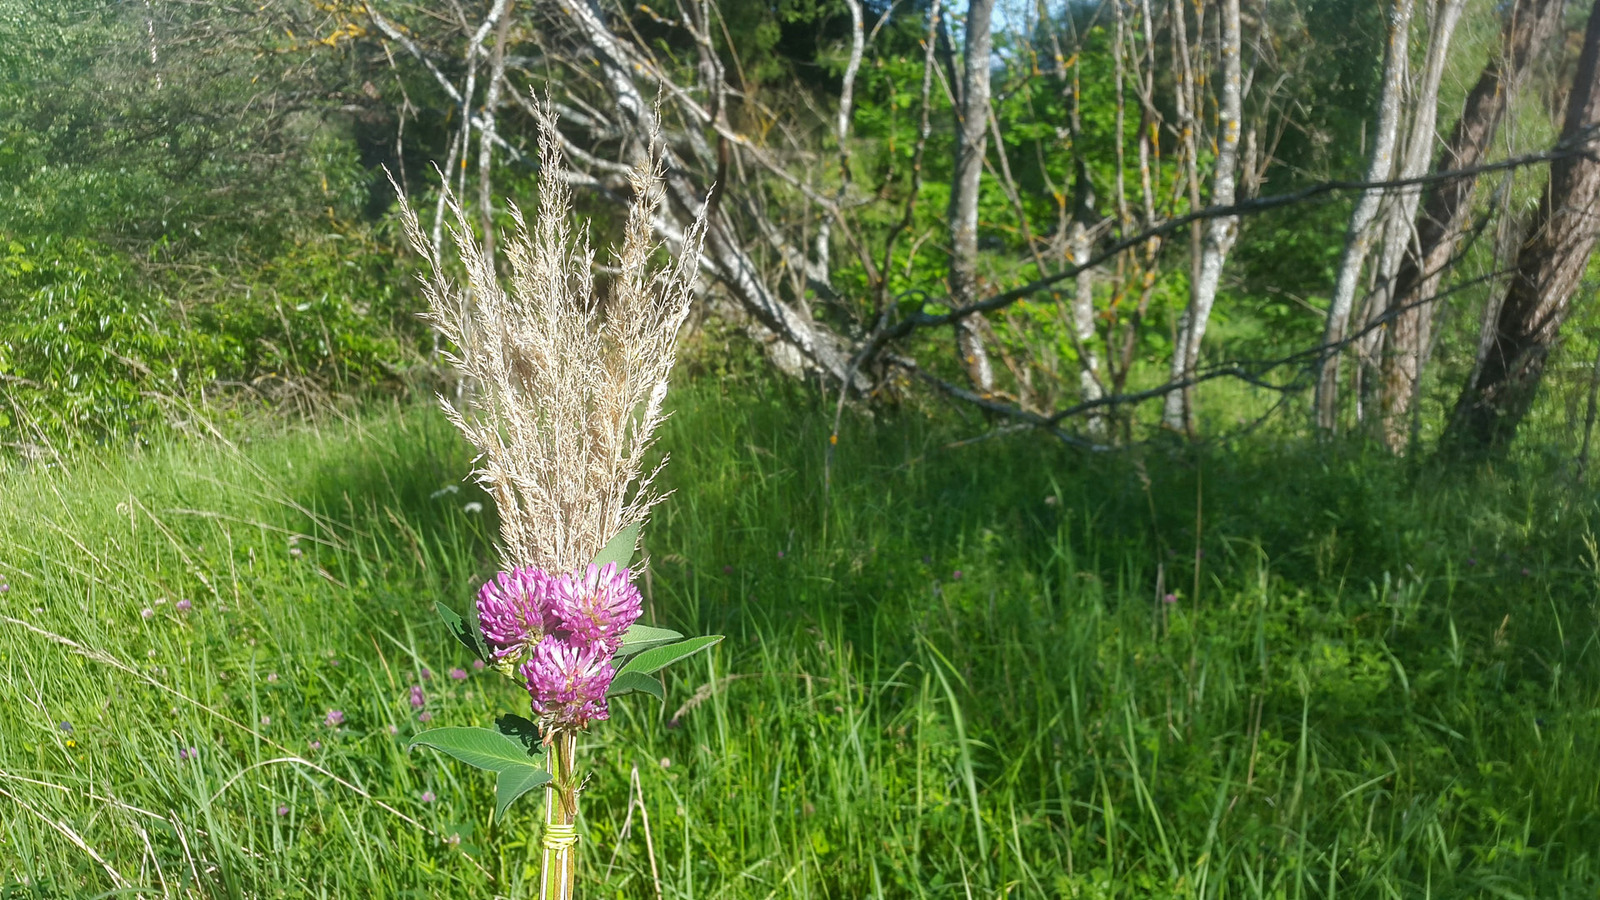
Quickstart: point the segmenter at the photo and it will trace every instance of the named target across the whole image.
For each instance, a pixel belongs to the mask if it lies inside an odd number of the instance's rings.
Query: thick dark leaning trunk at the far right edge
[[[1469,455],[1502,453],[1528,415],[1544,364],[1600,234],[1600,0],[1589,13],[1578,74],[1538,218],[1522,248],[1477,378],[1456,402],[1445,444]]]

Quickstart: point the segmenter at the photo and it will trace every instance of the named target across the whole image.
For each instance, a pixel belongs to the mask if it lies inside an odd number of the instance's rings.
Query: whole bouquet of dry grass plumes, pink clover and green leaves
[[[450,420],[477,447],[477,480],[499,509],[504,570],[464,620],[445,604],[450,631],[528,692],[531,717],[496,729],[446,727],[413,746],[442,749],[496,773],[494,815],[546,788],[541,897],[573,895],[582,772],[578,735],[610,717],[627,693],[664,700],[656,673],[720,641],[683,639],[638,625],[634,580],[638,530],[662,500],[645,468],[688,315],[702,229],[674,247],[656,243],[661,173],[648,154],[632,170],[632,205],[605,301],[594,253],[571,232],[571,197],[554,117],[541,136],[539,210],[530,224],[512,207],[502,285],[453,197],[451,237],[466,288],[445,272],[416,215],[402,203],[413,247],[434,261],[424,279],[430,317],[454,344],[450,357],[470,391]],[[446,189],[448,191],[448,189]],[[659,258],[672,259],[659,264]]]

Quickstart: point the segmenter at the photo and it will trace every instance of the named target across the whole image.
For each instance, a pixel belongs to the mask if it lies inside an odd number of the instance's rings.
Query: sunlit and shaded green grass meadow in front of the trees
[[[582,895],[1597,897],[1592,492],[910,416],[824,492],[816,404],[678,396],[646,621],[728,641],[590,735]],[[0,477],[0,897],[530,897],[536,804],[405,751],[526,701],[430,613],[467,464],[397,407]]]

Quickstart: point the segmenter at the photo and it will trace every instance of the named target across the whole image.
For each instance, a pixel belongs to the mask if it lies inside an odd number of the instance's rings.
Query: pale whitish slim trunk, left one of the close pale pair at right
[[[1394,0],[1389,14],[1389,46],[1384,50],[1384,86],[1378,101],[1378,130],[1373,135],[1373,160],[1366,167],[1366,181],[1387,181],[1394,170],[1395,144],[1400,136],[1400,94],[1410,64],[1406,45],[1411,37],[1411,2]],[[1339,275],[1328,301],[1328,323],[1323,328],[1323,352],[1317,360],[1317,428],[1333,431],[1339,415],[1339,357],[1355,304],[1355,288],[1362,279],[1362,266],[1373,245],[1373,223],[1382,200],[1381,191],[1366,191],[1355,200],[1350,213],[1350,231],[1344,239],[1344,255],[1339,258]]]

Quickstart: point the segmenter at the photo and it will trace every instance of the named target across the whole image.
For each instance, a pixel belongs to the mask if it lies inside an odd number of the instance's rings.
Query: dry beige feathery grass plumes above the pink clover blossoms
[[[651,223],[664,202],[658,154],[632,173],[634,202],[619,274],[602,303],[587,234],[573,234],[571,194],[555,117],[544,107],[539,138],[539,208],[504,242],[507,283],[474,237],[459,200],[446,191],[451,239],[466,285],[442,271],[402,197],[411,245],[434,261],[422,279],[429,317],[472,380],[466,408],[440,397],[446,415],[478,448],[477,480],[499,508],[507,565],[566,572],[587,564],[661,501],[645,455],[661,424],[677,336],[688,315],[702,223],[685,235],[675,261],[656,264],[662,245]]]

